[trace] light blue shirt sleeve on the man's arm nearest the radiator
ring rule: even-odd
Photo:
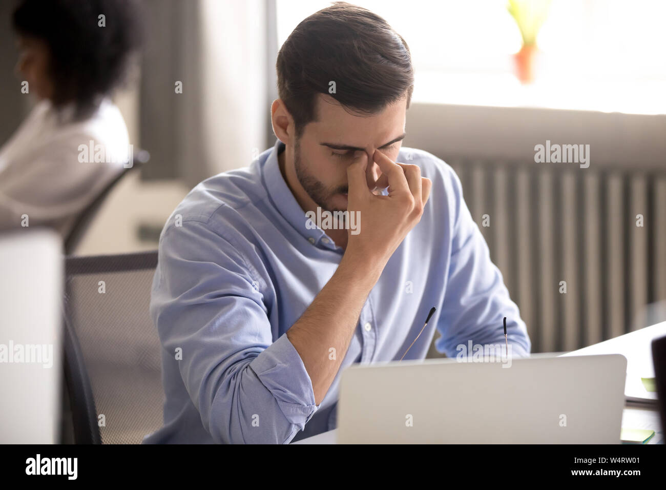
[[[469,341],[472,346],[503,347],[503,317],[506,317],[511,357],[524,357],[529,354],[531,343],[520,311],[509,297],[500,269],[490,259],[486,240],[463,199],[460,179],[450,167],[446,166],[446,171],[450,173],[446,192],[451,210],[452,245],[438,323],[442,337],[436,341],[436,347],[448,357],[467,351]],[[460,345],[464,349],[459,349]]]

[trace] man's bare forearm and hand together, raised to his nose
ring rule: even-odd
[[[358,324],[368,294],[407,233],[421,219],[432,182],[416,165],[392,162],[381,151],[373,155],[382,170],[377,185],[388,185],[388,195],[368,189],[364,156],[347,169],[348,211],[360,212],[360,233],[348,229],[348,243],[340,265],[303,315],[287,331],[312,381],[319,405],[342,361]],[[337,356],[330,359],[330,348]]]

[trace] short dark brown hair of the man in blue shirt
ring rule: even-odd
[[[335,2],[304,19],[276,63],[278,95],[294,118],[296,137],[316,120],[316,95],[330,95],[348,112],[373,115],[414,90],[407,43],[379,15]],[[335,82],[335,93],[329,92]]]

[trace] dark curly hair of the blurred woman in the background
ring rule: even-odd
[[[89,115],[123,83],[143,44],[143,16],[135,0],[21,0],[13,28],[47,43],[53,105],[74,101],[78,117]]]

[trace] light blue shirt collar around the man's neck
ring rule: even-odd
[[[278,155],[284,151],[284,143],[279,139],[275,142],[272,151],[264,164],[264,181],[266,182],[266,191],[274,207],[286,219],[298,233],[305,237],[310,243],[319,243],[322,238],[326,238],[326,233],[318,227],[308,229],[306,223],[310,221],[305,215],[305,211],[300,207],[296,197],[292,194],[287,183],[280,172],[280,163]],[[313,225],[310,225],[312,227]]]

